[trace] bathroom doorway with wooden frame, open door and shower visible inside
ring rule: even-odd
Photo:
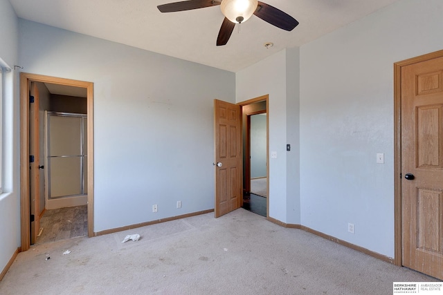
[[[21,73],[20,92],[21,162],[30,163],[21,165],[21,251],[93,236],[93,84]],[[56,133],[64,139],[53,143]]]

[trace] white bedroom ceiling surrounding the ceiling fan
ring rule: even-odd
[[[397,0],[264,0],[300,24],[291,32],[251,17],[226,46],[215,46],[224,16],[219,6],[161,13],[174,0],[10,0],[17,16],[237,72],[283,48],[301,46]],[[273,42],[266,49],[264,43]]]

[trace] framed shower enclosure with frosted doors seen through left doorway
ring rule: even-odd
[[[87,204],[87,115],[45,112],[45,207]]]

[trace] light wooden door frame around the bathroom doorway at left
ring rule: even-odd
[[[20,73],[20,212],[21,251],[30,248],[29,200],[29,91],[30,82],[43,82],[87,88],[87,183],[88,183],[88,236],[93,236],[93,83],[30,73]]]

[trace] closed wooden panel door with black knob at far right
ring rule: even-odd
[[[443,279],[443,57],[401,68],[402,263]]]

